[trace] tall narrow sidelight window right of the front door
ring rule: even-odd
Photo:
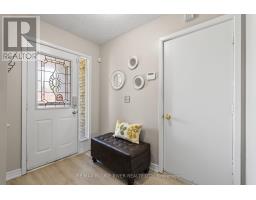
[[[79,67],[79,133],[80,140],[89,138],[88,130],[88,61],[80,58]]]

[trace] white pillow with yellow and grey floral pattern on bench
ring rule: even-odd
[[[117,120],[114,137],[122,138],[139,144],[141,128],[141,124],[128,124],[126,122],[119,122],[119,120]]]

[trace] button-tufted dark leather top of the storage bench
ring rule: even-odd
[[[134,144],[121,138],[114,137],[113,134],[114,133],[112,132],[107,133],[94,137],[92,140],[132,158],[143,154],[150,148],[150,145],[147,143],[140,142],[140,144]]]

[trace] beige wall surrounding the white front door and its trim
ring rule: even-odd
[[[99,46],[41,21],[40,39],[92,56],[92,133],[99,132]],[[7,171],[21,168],[21,67],[8,74]]]

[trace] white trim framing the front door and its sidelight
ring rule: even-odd
[[[80,53],[80,52],[76,52],[46,41],[42,41],[42,40],[38,40],[37,41],[38,44],[41,45],[45,45],[57,50],[61,50],[67,53],[71,53],[83,58],[86,58],[89,62],[88,62],[88,72],[89,72],[89,91],[88,91],[88,95],[89,95],[89,103],[88,103],[88,121],[89,121],[89,138],[91,137],[91,106],[92,106],[92,101],[91,101],[91,86],[92,86],[92,57],[88,56],[86,54]],[[22,175],[27,173],[27,63],[26,62],[22,62],[21,63],[21,67],[22,67],[22,133],[21,133],[21,173]],[[78,134],[78,147],[79,147],[79,142],[80,138],[79,138],[79,134]]]

